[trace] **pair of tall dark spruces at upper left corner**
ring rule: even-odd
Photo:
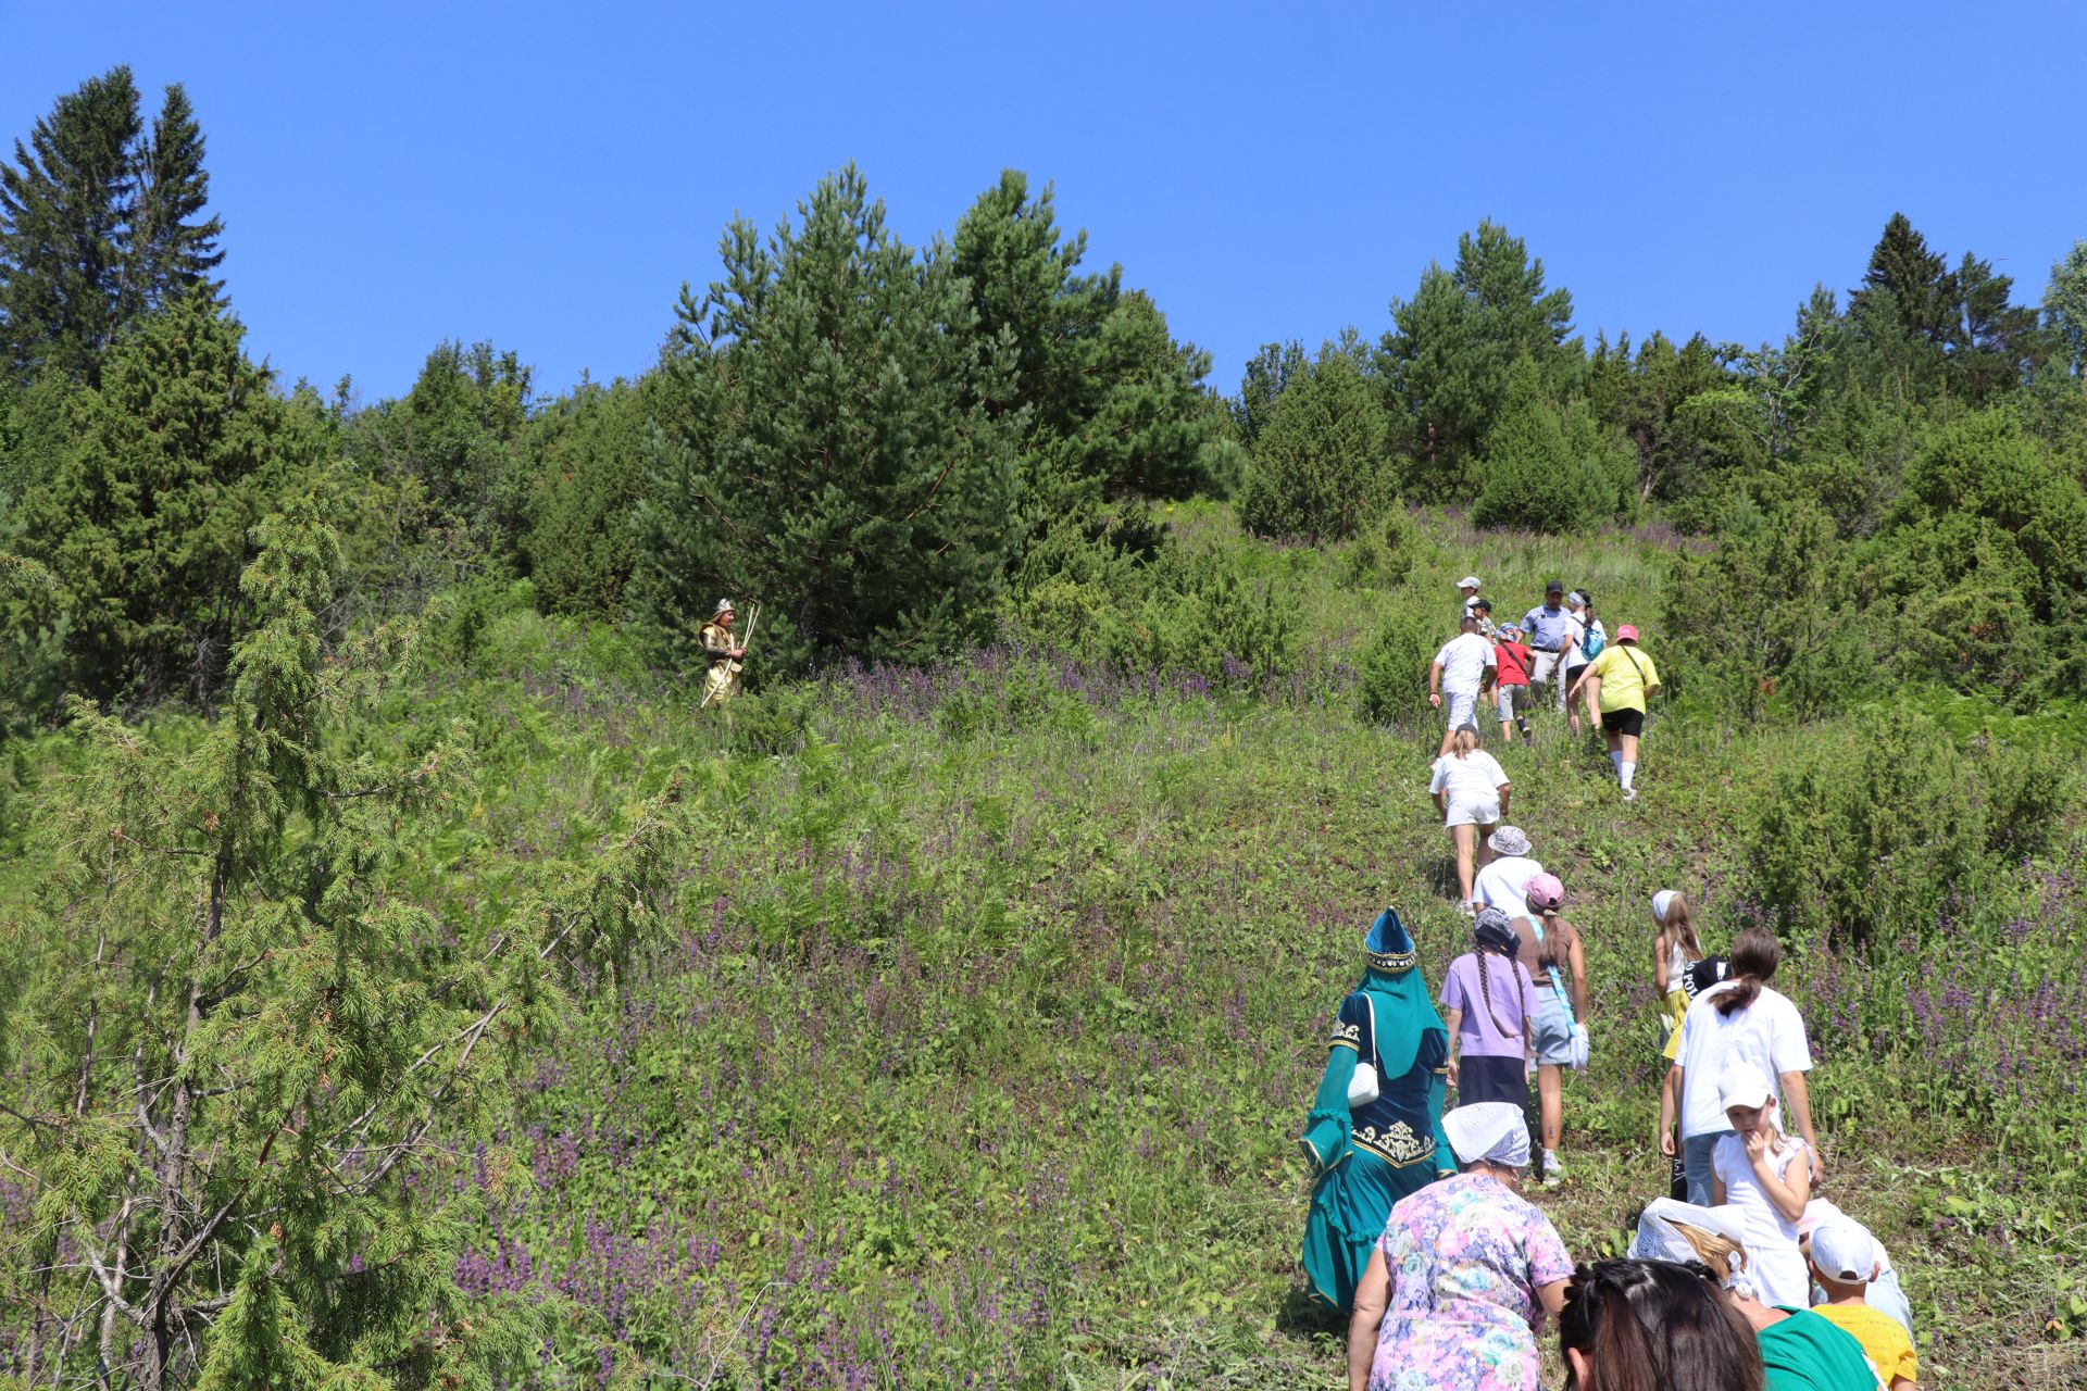
[[[0,352],[17,380],[40,371],[96,384],[119,334],[209,271],[219,219],[209,202],[202,129],[179,86],[150,136],[127,67],[61,96],[0,163]]]

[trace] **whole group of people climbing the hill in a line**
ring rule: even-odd
[[[1461,588],[1463,632],[1430,672],[1430,697],[1448,705],[1430,790],[1457,849],[1469,951],[1430,995],[1398,909],[1377,916],[1302,1132],[1315,1172],[1302,1264],[1350,1318],[1350,1389],[1536,1391],[1536,1339],[1555,1318],[1576,1391],[1912,1391],[1891,1260],[1814,1195],[1812,1051],[1770,984],[1772,932],[1747,928],[1709,955],[1688,897],[1651,897],[1670,1166],[1630,1258],[1576,1264],[1526,1191],[1565,1174],[1563,1074],[1588,1059],[1588,972],[1565,884],[1505,820],[1513,786],[1478,747],[1478,701],[1498,692],[1513,738],[1532,682],[1555,682],[1561,709],[1586,699],[1613,755],[1628,738],[1615,757],[1628,799],[1659,676],[1630,626],[1613,644],[1592,636],[1584,592],[1551,584],[1540,609],[1490,628],[1478,580]]]

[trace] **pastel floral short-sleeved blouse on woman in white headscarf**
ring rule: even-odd
[[[1392,1291],[1369,1391],[1536,1391],[1536,1289],[1572,1274],[1559,1233],[1488,1174],[1432,1182],[1377,1239]]]

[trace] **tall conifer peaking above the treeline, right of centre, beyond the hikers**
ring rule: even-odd
[[[1411,300],[1392,300],[1392,325],[1380,371],[1398,444],[1415,457],[1409,488],[1459,482],[1517,361],[1549,373],[1578,357],[1565,348],[1572,294],[1544,290],[1544,263],[1494,221],[1457,238],[1455,269],[1430,265]]]

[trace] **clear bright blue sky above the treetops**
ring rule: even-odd
[[[0,136],[184,81],[232,300],[284,382],[440,338],[645,369],[735,213],[854,158],[910,242],[1002,167],[1238,386],[1505,221],[1578,327],[1780,338],[1903,209],[2037,300],[2087,238],[2087,6],[102,4],[0,0]]]

